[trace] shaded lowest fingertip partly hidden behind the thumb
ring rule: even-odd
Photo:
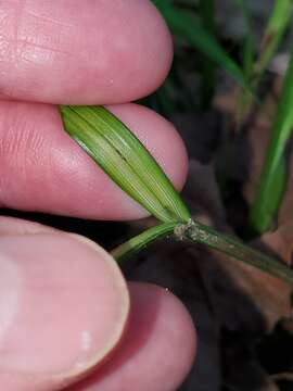
[[[183,304],[149,283],[129,285],[128,329],[111,361],[72,391],[177,390],[193,364],[196,335]]]

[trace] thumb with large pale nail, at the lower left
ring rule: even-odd
[[[0,383],[58,390],[102,362],[129,310],[113,258],[62,232],[0,237]]]

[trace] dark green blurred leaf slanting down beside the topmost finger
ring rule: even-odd
[[[161,0],[153,1],[165,17],[170,30],[183,38],[189,45],[200,50],[211,60],[226,70],[241,86],[250,89],[241,67],[231,59],[217,40],[201,24],[199,18],[190,12],[171,5],[162,4]]]

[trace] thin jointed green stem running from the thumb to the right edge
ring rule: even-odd
[[[112,255],[120,263],[133,253],[146,248],[151,242],[173,234],[180,240],[186,239],[205,244],[211,249],[255,266],[293,286],[293,270],[285,264],[250,248],[233,237],[220,234],[214,228],[191,219],[188,224],[166,223],[150,228],[114,249]]]

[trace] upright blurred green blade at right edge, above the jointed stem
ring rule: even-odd
[[[293,52],[277,108],[259,186],[251,209],[251,225],[257,232],[267,230],[278,213],[285,186],[284,149],[293,128]]]

